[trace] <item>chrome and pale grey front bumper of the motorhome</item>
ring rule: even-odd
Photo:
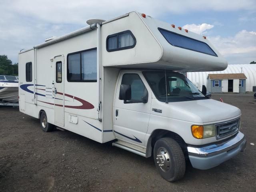
[[[239,131],[230,140],[205,146],[188,146],[188,156],[194,168],[205,170],[218,166],[239,152],[244,152],[245,148],[246,139]]]

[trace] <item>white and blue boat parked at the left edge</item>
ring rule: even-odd
[[[0,75],[0,102],[18,102],[18,78]]]

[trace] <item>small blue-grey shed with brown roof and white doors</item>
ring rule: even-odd
[[[208,74],[207,88],[212,93],[245,93],[246,79],[243,73]]]

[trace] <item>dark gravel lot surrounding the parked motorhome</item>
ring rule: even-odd
[[[242,191],[255,192],[256,99],[252,93],[213,94],[242,110],[247,148],[210,170],[187,166],[184,179],[162,179],[153,158],[69,131],[40,130],[39,120],[0,106],[0,191]]]

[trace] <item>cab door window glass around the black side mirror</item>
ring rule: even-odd
[[[124,74],[121,84],[131,85],[131,102],[142,102],[142,97],[146,94],[147,90],[138,74]]]

